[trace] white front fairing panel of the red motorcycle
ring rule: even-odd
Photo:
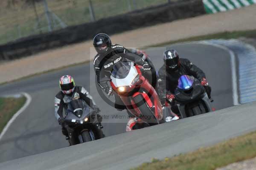
[[[116,86],[116,88],[121,87],[121,86],[129,86],[131,85],[132,81],[134,78],[138,75],[138,72],[134,66],[133,63],[131,63],[131,69],[129,74],[124,78],[124,79],[117,79],[113,77],[112,75],[110,76],[111,81],[113,84]]]

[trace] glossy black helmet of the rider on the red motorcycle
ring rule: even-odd
[[[106,54],[111,49],[111,40],[107,34],[100,33],[93,38],[93,46],[99,54]]]

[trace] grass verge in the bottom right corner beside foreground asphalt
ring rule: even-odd
[[[215,170],[228,164],[256,157],[256,131],[211,147],[164,160],[152,159],[132,170]]]

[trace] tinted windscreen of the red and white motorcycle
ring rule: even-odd
[[[131,62],[117,62],[111,71],[111,75],[116,79],[124,79],[129,74],[130,69]]]

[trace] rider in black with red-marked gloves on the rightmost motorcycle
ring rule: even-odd
[[[204,86],[209,99],[211,99],[211,87],[208,85],[204,72],[194,65],[189,59],[180,58],[177,51],[169,49],[163,53],[164,64],[157,74],[157,92],[162,104],[171,104],[172,111],[179,113],[175,104],[174,91],[178,85],[178,79],[182,75],[189,75],[197,78]]]

